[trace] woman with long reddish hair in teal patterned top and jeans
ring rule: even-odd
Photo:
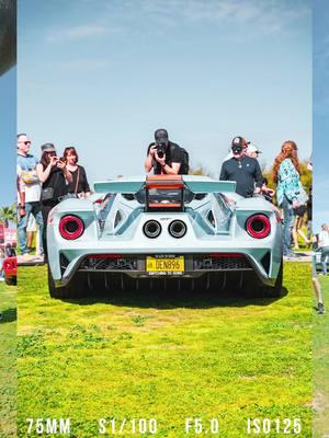
[[[276,183],[277,205],[283,209],[283,255],[295,257],[291,249],[294,226],[294,209],[299,207],[300,168],[297,145],[288,140],[282,145],[273,165],[273,180]]]

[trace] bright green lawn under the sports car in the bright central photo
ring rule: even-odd
[[[21,268],[19,285],[19,436],[26,417],[70,417],[78,438],[100,436],[102,417],[156,418],[156,436],[174,438],[196,436],[188,417],[218,418],[226,438],[247,437],[248,417],[290,417],[311,437],[308,263],[285,264],[276,300],[154,291],[60,301],[45,267]]]

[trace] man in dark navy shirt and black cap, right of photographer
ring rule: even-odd
[[[235,137],[231,142],[232,158],[224,161],[220,170],[220,181],[236,181],[236,192],[248,198],[260,193],[263,175],[256,158],[246,155],[247,141]]]

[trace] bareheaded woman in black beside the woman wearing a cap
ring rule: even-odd
[[[79,198],[83,198],[90,195],[90,188],[87,180],[84,168],[78,164],[79,157],[77,149],[73,147],[65,148],[63,161],[70,174],[72,175],[72,182],[68,184],[68,193],[76,195]]]

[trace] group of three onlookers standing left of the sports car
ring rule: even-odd
[[[31,140],[18,135],[18,241],[20,262],[47,261],[46,227],[49,211],[66,197],[90,195],[84,168],[75,147],[59,158],[50,142],[41,147],[41,159],[30,153]],[[38,228],[38,233],[35,233]],[[36,245],[33,246],[36,234]]]

